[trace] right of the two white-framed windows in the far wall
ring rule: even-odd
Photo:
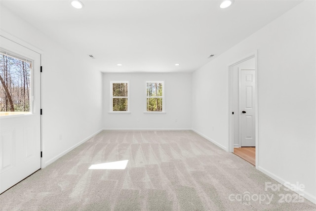
[[[164,112],[163,82],[146,82],[147,112]]]

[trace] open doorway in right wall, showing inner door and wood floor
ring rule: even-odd
[[[257,53],[229,65],[229,151],[258,166]]]

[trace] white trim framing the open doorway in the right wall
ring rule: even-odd
[[[228,65],[228,151],[234,152],[234,115],[233,112],[233,69],[239,63],[242,63],[248,59],[255,58],[255,135],[256,135],[256,169],[258,169],[259,164],[259,115],[258,115],[258,50],[255,52],[241,57],[241,59],[237,60]]]

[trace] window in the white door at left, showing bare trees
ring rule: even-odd
[[[0,116],[31,113],[32,61],[0,50]]]

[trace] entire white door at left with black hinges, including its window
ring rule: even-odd
[[[0,50],[2,193],[40,169],[40,54],[3,37],[0,37]]]

